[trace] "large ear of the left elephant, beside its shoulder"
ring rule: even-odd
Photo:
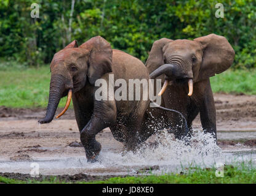
[[[104,74],[112,72],[113,51],[110,43],[103,39],[103,37],[92,37],[79,48],[89,50],[89,68],[87,70],[87,76],[90,84],[94,85],[95,81]]]

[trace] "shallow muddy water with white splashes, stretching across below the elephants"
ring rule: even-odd
[[[104,134],[103,134],[104,137]],[[256,132],[220,132],[218,139],[256,138]],[[99,138],[100,139],[100,138]],[[152,145],[154,143],[154,145]],[[70,148],[70,147],[68,147]],[[39,148],[46,149],[44,147]],[[74,148],[72,148],[74,149]],[[77,149],[77,148],[76,148]],[[60,151],[56,146],[52,151]],[[161,132],[151,137],[148,142],[138,149],[137,153],[124,153],[119,143],[114,140],[103,143],[99,162],[87,163],[82,152],[74,154],[48,154],[34,156],[33,160],[10,161],[0,160],[1,172],[30,173],[32,163],[37,163],[42,175],[73,175],[86,173],[87,175],[137,175],[140,170],[154,166],[153,173],[180,172],[185,167],[213,167],[215,163],[239,164],[239,162],[256,163],[256,148],[250,148],[237,143],[233,146],[215,145],[210,135],[198,131],[191,139],[190,146],[182,141],[175,141],[172,135]],[[157,166],[155,166],[157,165]]]

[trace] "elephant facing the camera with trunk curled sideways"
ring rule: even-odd
[[[200,113],[202,129],[214,135],[216,142],[216,111],[210,77],[220,74],[233,63],[234,50],[225,37],[210,34],[194,40],[162,38],[153,43],[146,67],[150,78],[162,80],[162,105],[180,111],[190,127]],[[184,130],[173,114],[175,137]],[[176,122],[176,124],[175,124]]]

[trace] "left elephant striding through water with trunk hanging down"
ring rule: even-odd
[[[76,40],[71,42],[54,55],[50,70],[47,113],[39,123],[50,123],[60,99],[68,96],[66,106],[57,118],[63,115],[72,98],[81,142],[90,162],[96,160],[101,149],[95,140],[100,130],[110,127],[116,140],[123,142],[126,149],[134,150],[155,131],[153,120],[159,123],[159,119],[166,115],[164,110],[150,108],[150,99],[143,100],[143,96],[139,100],[115,100],[110,99],[114,92],[103,91],[108,99],[96,99],[95,92],[100,88],[96,85],[98,79],[106,81],[106,89],[118,88],[110,82],[110,74],[114,75],[115,81],[122,79],[127,84],[129,79],[150,79],[142,61],[123,51],[112,50],[110,43],[100,36],[79,47]],[[140,93],[142,95],[142,91]],[[161,125],[158,128],[161,129]]]

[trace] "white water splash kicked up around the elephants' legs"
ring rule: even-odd
[[[215,160],[222,157],[221,149],[216,145],[211,134],[194,132],[190,145],[185,141],[175,140],[172,134],[161,131],[151,137],[135,153],[100,154],[100,160],[105,167],[138,168],[158,165],[164,172],[177,171],[182,167],[207,167],[214,165]]]

